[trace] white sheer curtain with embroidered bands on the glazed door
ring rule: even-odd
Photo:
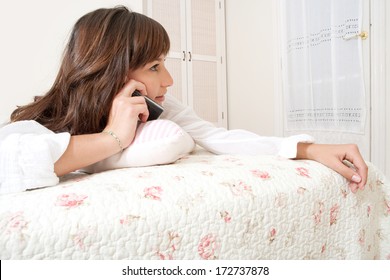
[[[280,0],[287,131],[364,133],[362,0]]]

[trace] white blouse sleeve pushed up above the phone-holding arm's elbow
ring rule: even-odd
[[[0,129],[0,194],[20,192],[59,182],[54,163],[65,152],[69,133],[54,133],[35,121]]]

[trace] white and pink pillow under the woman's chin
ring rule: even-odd
[[[138,126],[133,143],[122,153],[90,165],[89,173],[124,167],[173,163],[195,147],[192,137],[176,123],[154,120]]]

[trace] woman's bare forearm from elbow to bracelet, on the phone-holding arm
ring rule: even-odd
[[[116,139],[106,133],[72,136],[67,149],[55,162],[54,172],[62,176],[110,157],[120,150]]]

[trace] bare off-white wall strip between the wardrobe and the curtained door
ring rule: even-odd
[[[228,125],[274,131],[273,0],[226,0]]]

